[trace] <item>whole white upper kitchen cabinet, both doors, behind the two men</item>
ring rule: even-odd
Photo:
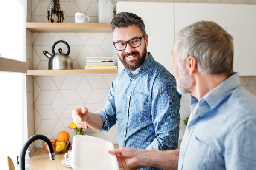
[[[177,33],[200,21],[214,21],[234,38],[234,71],[256,75],[256,5],[203,3],[118,2],[116,11],[142,17],[148,34],[148,51],[172,74],[172,47]],[[116,52],[114,50],[114,54]],[[118,60],[119,72],[124,68]]]

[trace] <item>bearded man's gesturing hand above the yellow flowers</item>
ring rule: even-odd
[[[88,128],[86,118],[87,118],[88,109],[86,107],[76,108],[72,111],[73,122],[82,128]]]

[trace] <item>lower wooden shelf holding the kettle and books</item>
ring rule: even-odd
[[[102,70],[27,70],[27,76],[74,75],[74,74],[118,74],[118,69]]]

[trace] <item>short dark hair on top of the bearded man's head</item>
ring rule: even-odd
[[[110,23],[111,34],[116,28],[125,28],[131,25],[135,25],[140,28],[142,34],[146,34],[146,28],[141,17],[130,13],[130,12],[120,12],[113,17]]]

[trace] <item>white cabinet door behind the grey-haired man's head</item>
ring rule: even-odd
[[[256,75],[256,5],[175,3],[174,9],[175,39],[194,22],[213,21],[234,39],[234,71]]]

